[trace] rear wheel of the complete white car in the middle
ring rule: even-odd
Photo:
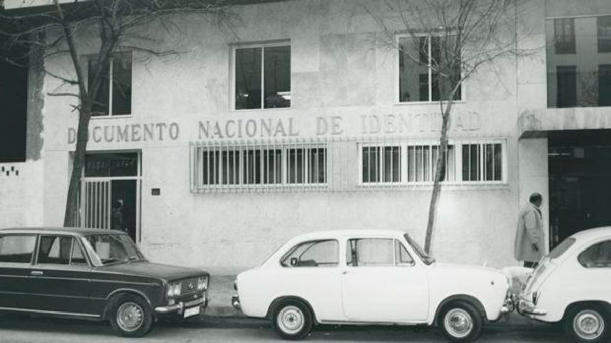
[[[281,338],[296,341],[312,331],[312,321],[310,308],[302,301],[290,299],[276,306],[271,323]]]

